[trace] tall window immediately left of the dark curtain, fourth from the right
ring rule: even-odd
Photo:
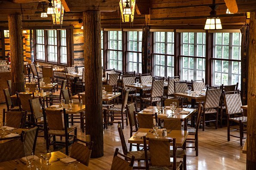
[[[142,31],[128,31],[128,71],[142,73]]]

